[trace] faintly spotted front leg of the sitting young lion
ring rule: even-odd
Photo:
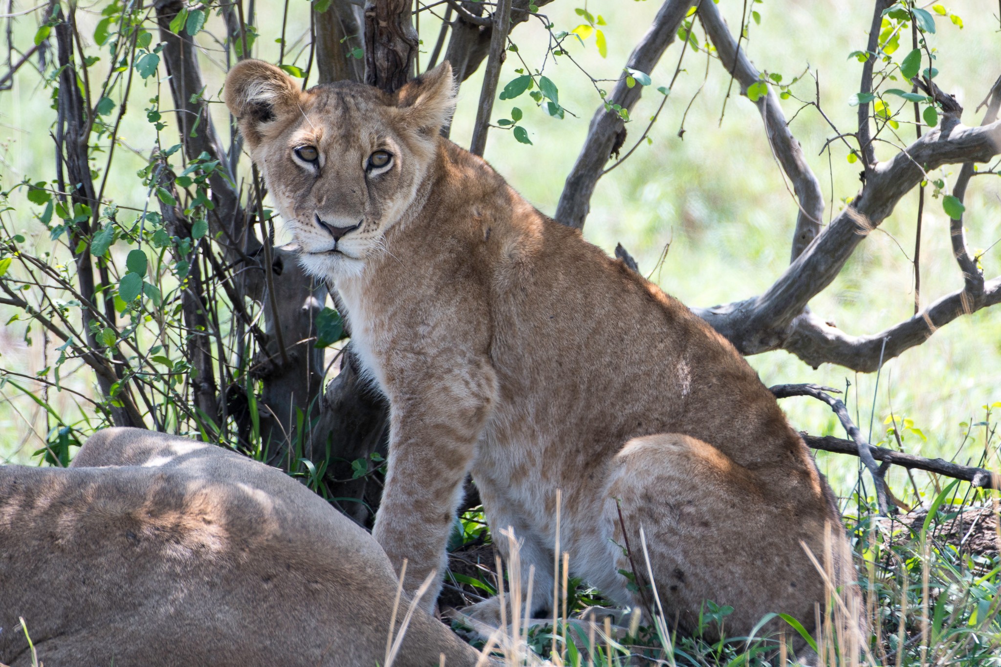
[[[441,588],[445,543],[493,403],[495,381],[485,361],[425,374],[419,390],[389,392],[389,461],[372,534],[414,595],[433,575],[420,606],[430,610]]]

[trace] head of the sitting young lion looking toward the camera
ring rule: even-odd
[[[360,270],[413,203],[455,104],[446,62],[389,95],[347,81],[303,92],[245,60],[226,77],[225,101],[303,267],[322,277]]]

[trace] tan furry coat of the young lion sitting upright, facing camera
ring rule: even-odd
[[[616,544],[625,523],[637,563],[644,528],[683,630],[707,599],[735,608],[729,634],[768,612],[812,628],[823,585],[800,540],[822,554],[825,523],[837,526],[837,567],[851,581],[847,542],[808,449],[733,346],[483,160],[428,135],[427,118],[451,108],[447,64],[396,96],[336,83],[274,102],[266,121],[241,106],[260,79],[282,76],[241,63],[227,101],[303,266],[336,286],[352,344],[389,399],[374,535],[393,563],[410,559],[405,585],[440,572],[471,472],[494,534],[512,526],[524,541],[537,611],[552,595],[562,489],[571,569],[619,604],[640,602],[618,573],[631,569]],[[319,149],[318,172],[291,158],[301,141]],[[365,156],[384,147],[392,170],[368,175]],[[314,216],[361,227],[334,246]]]

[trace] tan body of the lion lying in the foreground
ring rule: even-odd
[[[365,531],[214,445],[107,429],[69,469],[0,466],[0,663],[31,664],[24,617],[47,667],[375,667],[396,587]],[[394,664],[439,653],[476,661],[420,612]]]

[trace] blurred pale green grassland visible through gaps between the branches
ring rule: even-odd
[[[736,34],[743,0],[721,0],[719,6]],[[304,0],[291,0],[286,31],[290,44],[298,41],[286,51],[285,62],[294,59],[303,69],[308,55],[301,51],[308,40],[308,7]],[[424,62],[439,26],[432,14],[442,7],[420,14]],[[946,3],[945,7],[962,18],[963,27],[936,14],[938,30],[932,39],[940,70],[936,81],[963,104],[964,122],[979,124],[981,114],[974,109],[1001,75],[999,7],[987,0]],[[93,34],[101,8],[102,3],[98,3],[78,9],[84,35]],[[568,48],[592,77],[618,78],[660,3],[556,0],[541,12],[553,22],[554,31],[570,31],[584,22],[575,11],[584,8],[601,15],[607,23],[601,26],[608,42],[607,57],[598,52],[593,35],[583,45],[569,40]],[[849,106],[848,98],[858,91],[862,64],[849,54],[865,48],[872,3],[766,0],[754,3],[754,10],[759,13],[760,24],[749,23],[746,44],[758,69],[781,73],[784,82],[809,71],[793,87],[793,93],[812,100],[819,91],[820,104],[838,131],[854,131],[857,110]],[[280,3],[258,3],[260,37],[254,45],[256,57],[276,60],[278,46],[274,39],[279,35],[281,11]],[[14,42],[19,48],[31,45],[38,15],[36,11],[15,20]],[[221,20],[214,15],[206,29],[224,34]],[[695,32],[703,44],[705,37],[698,24]],[[513,33],[519,53],[533,69],[543,68],[549,39],[550,34],[539,20],[520,25]],[[205,95],[218,100],[225,74],[222,51],[206,33],[198,35],[198,42],[204,47],[201,64],[208,81]],[[909,36],[902,42],[898,58],[910,50]],[[656,88],[669,84],[680,53],[681,46],[675,43],[650,73],[653,86],[645,91],[632,114],[627,149],[640,137],[660,103],[662,96]],[[514,54],[508,55],[502,86],[517,76],[514,70],[522,66]],[[98,70],[100,67],[100,63],[95,66]],[[600,181],[585,235],[610,253],[616,243],[623,243],[638,260],[641,271],[651,274],[651,279],[665,291],[687,304],[710,306],[760,294],[781,274],[789,261],[797,205],[772,158],[758,111],[738,95],[736,83],[726,102],[726,113],[722,113],[730,76],[720,63],[703,48],[689,48],[682,68],[651,132],[652,143],[640,146],[621,167]],[[494,120],[510,117],[512,106],[525,111],[522,125],[533,144],[519,143],[511,132],[491,129],[485,158],[530,201],[553,214],[600,98],[588,75],[566,57],[551,55],[545,61],[544,74],[559,86],[561,103],[568,111],[566,117],[551,118],[536,108],[528,95],[514,102],[497,101]],[[162,66],[160,76],[165,76]],[[121,131],[124,150],[116,154],[115,169],[120,173],[113,174],[108,186],[110,198],[138,208],[142,208],[147,193],[134,173],[146,163],[157,141],[140,110],[148,107],[148,100],[157,94],[168,123],[160,141],[164,146],[176,143],[174,119],[165,113],[171,107],[167,82],[151,81],[144,84],[137,79],[133,85],[130,110]],[[314,81],[315,74],[311,83]],[[611,90],[613,84],[600,85]],[[477,73],[459,91],[451,137],[460,145],[468,144],[479,87]],[[44,179],[53,170],[49,129],[55,112],[50,108],[50,92],[39,73],[29,67],[14,77],[12,90],[0,92],[0,187],[4,190],[25,177]],[[830,156],[819,154],[825,141],[836,132],[816,109],[800,110],[801,106],[795,99],[783,102],[787,118],[795,116],[792,131],[822,184],[828,201],[825,215],[837,214],[845,198],[855,196],[859,189],[858,164],[846,160],[843,144],[833,145]],[[678,135],[687,108],[682,139]],[[225,109],[218,104],[214,111],[217,127],[228,141]],[[903,118],[912,118],[912,113],[908,109]],[[898,135],[899,141],[887,138],[898,144],[913,141],[914,127],[901,123]],[[882,159],[896,151],[890,144],[877,145],[877,155]],[[241,167],[249,169],[246,159]],[[936,177],[951,184],[958,172],[958,165],[947,167]],[[921,252],[925,304],[962,285],[949,245],[948,218],[941,200],[930,197],[931,189],[928,195]],[[11,195],[10,205],[15,210],[5,215],[13,216],[30,243],[39,249],[51,245],[34,220],[37,207],[27,202],[23,191]],[[990,248],[981,261],[986,277],[997,276],[1001,273],[1001,244],[993,244],[1001,239],[1001,179],[993,175],[974,178],[966,207],[970,247],[975,252]],[[916,211],[915,191],[859,247],[838,280],[811,307],[853,334],[875,333],[910,317],[914,307],[910,258]],[[669,243],[665,261],[658,264]],[[68,257],[65,249],[60,256]],[[0,307],[0,317],[2,322],[9,318],[4,307]],[[31,333],[32,345],[28,346],[24,338],[23,323],[12,323],[0,331],[0,368],[33,373],[47,365],[52,350],[46,349],[37,327]],[[890,361],[883,369],[878,391],[875,374],[859,375],[831,365],[815,370],[786,352],[753,356],[749,361],[768,385],[813,382],[844,389],[846,383],[851,383],[847,403],[863,433],[868,433],[873,421],[873,442],[886,439],[884,422],[892,411],[898,420],[913,420],[920,431],[905,434],[908,451],[955,458],[960,463],[968,459],[976,462],[986,443],[987,427],[977,425],[985,420],[983,406],[1001,401],[1001,309],[960,318],[923,346]],[[86,369],[66,377],[64,384],[84,393],[94,391],[93,378]],[[50,393],[49,398],[58,409],[78,410],[76,400],[65,392],[59,396]],[[784,400],[783,407],[800,429],[844,436],[829,409],[819,402],[793,398]],[[0,461],[29,461],[31,452],[41,446],[39,436],[45,438],[45,431],[44,413],[37,405],[10,385],[0,389]],[[990,466],[997,469],[997,451],[994,444],[991,447]],[[856,479],[856,459],[819,453],[818,460],[839,492],[850,491]],[[915,477],[919,486],[927,483],[921,474]],[[903,471],[892,469],[890,480],[899,494],[906,480]]]

